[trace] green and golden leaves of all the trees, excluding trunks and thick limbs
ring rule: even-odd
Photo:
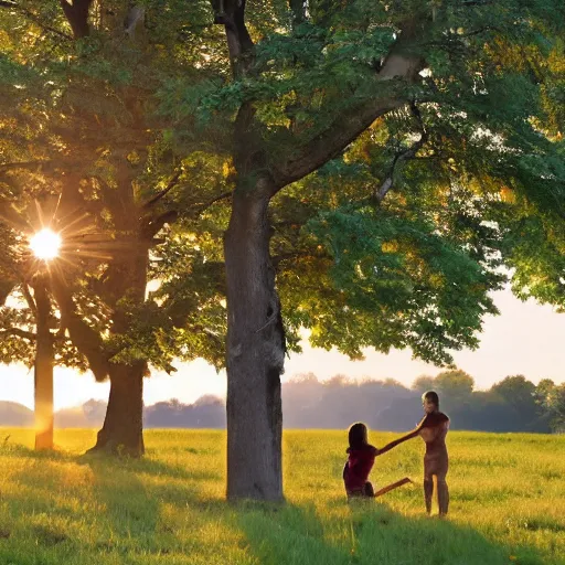
[[[145,305],[120,302],[132,323],[106,344],[115,361],[147,359],[168,371],[174,358],[223,363],[222,275],[207,265],[223,260],[228,209],[196,212],[233,189],[231,136],[248,103],[276,173],[364,100],[401,100],[271,204],[290,349],[306,327],[315,345],[353,358],[364,347],[409,347],[449,364],[449,351],[477,347],[483,316],[495,313],[489,291],[504,280],[501,265],[513,269],[520,297],[562,305],[561,2],[319,1],[308,14],[281,1],[249,4],[253,65],[236,77],[204,1],[163,10],[148,0],[145,28],[126,40],[126,3],[95,3],[92,33],[76,42],[65,39],[56,2],[19,6],[33,18],[2,10],[2,143],[10,159],[62,164],[12,172],[10,182],[33,178],[35,192],[56,191],[53,179],[72,170],[96,230],[127,241],[108,206],[117,179],[132,179],[141,204],[182,169],[157,210],[185,216],[164,226],[150,253],[150,276],[162,286]],[[399,31],[426,70],[409,85],[379,76]],[[387,180],[392,189],[377,202]],[[92,290],[103,267],[74,276]]]

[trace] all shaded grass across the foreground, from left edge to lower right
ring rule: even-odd
[[[148,556],[157,563],[173,554],[178,561],[180,555],[222,559],[232,541],[222,547],[216,544],[230,532],[237,533],[234,544],[239,543],[237,537],[243,544],[242,561],[238,554],[234,564],[247,563],[244,554],[260,565],[546,563],[535,547],[521,546],[511,554],[509,547],[465,524],[405,516],[375,501],[348,505],[330,498],[300,505],[227,505],[203,494],[199,484],[217,481],[216,472],[188,470],[158,458],[36,452],[21,446],[3,447],[0,456],[29,460],[14,476],[18,488],[2,495],[8,521],[17,522],[18,532],[3,540],[2,532],[12,524],[0,522],[0,563],[93,563],[93,556],[99,556],[100,564],[126,558],[136,563]],[[78,469],[78,482],[73,483],[67,473],[76,466],[92,472]],[[90,507],[81,508],[86,503]],[[25,550],[17,553],[15,541]],[[42,557],[38,552],[43,552]],[[71,561],[79,553],[90,557]]]

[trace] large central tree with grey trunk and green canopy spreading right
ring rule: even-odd
[[[363,341],[382,350],[411,345],[448,361],[448,349],[476,345],[482,316],[495,311],[487,292],[503,279],[500,259],[535,294],[524,267],[532,246],[563,241],[562,149],[544,124],[557,102],[546,75],[561,68],[548,61],[559,57],[565,8],[519,0],[215,7],[232,79],[201,109],[233,116],[236,170],[224,246],[227,495],[278,500],[286,340],[269,204],[317,171],[330,186],[338,175],[343,193],[358,189],[349,205],[338,196],[311,224],[342,295],[326,322],[339,329],[326,332],[326,344],[363,333],[356,311],[379,320]],[[515,233],[510,244],[518,225],[520,249]],[[547,249],[536,265],[552,278],[540,288],[553,285],[554,301],[563,299],[559,260]]]

